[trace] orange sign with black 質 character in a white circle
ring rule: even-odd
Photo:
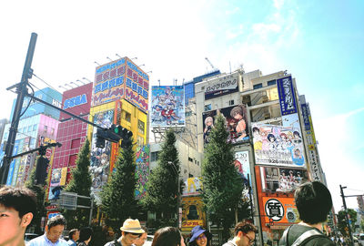
[[[298,223],[298,210],[294,198],[262,197],[264,205],[264,221],[269,223]]]

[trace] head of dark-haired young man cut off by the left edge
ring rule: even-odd
[[[0,189],[0,245],[24,241],[26,227],[36,212],[35,193],[26,188]]]

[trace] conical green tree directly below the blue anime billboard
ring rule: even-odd
[[[158,153],[157,167],[150,173],[147,181],[147,194],[141,200],[147,210],[157,214],[153,227],[176,225],[179,172],[176,136],[173,129],[169,129]]]

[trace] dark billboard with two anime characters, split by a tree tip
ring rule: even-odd
[[[247,108],[244,104],[238,106],[232,106],[227,108],[218,109],[227,119],[227,130],[230,133],[227,137],[227,141],[230,143],[245,142],[249,139],[249,132],[247,128]],[[217,110],[211,110],[202,114],[203,126],[204,126],[204,143],[209,142],[209,134],[214,128],[214,120],[217,115]]]

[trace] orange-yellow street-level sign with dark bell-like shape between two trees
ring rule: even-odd
[[[191,231],[199,225],[205,227],[204,204],[200,197],[182,198],[182,231]]]

